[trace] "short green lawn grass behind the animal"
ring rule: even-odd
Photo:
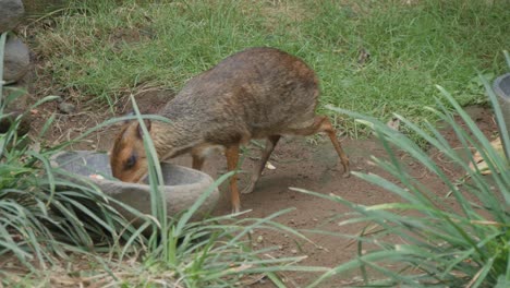
[[[35,25],[42,79],[113,104],[141,87],[178,92],[193,75],[251,46],[312,65],[331,104],[380,119],[434,120],[439,84],[461,105],[486,103],[477,71],[502,71],[509,1],[77,1]],[[490,2],[491,4],[488,4]],[[41,23],[41,22],[38,22]],[[361,48],[372,57],[357,64]],[[351,135],[354,122],[338,119]]]

